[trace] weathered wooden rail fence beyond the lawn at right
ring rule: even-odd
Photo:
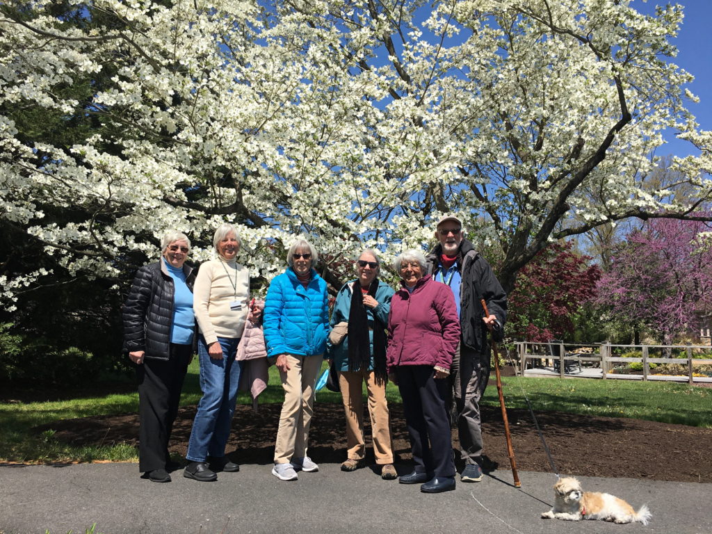
[[[560,377],[580,376],[586,378],[621,378],[621,379],[651,379],[650,364],[686,365],[687,376],[654,375],[656,380],[673,380],[676,382],[712,382],[712,377],[695,377],[693,370],[696,365],[712,365],[712,359],[693,357],[694,350],[709,351],[709,345],[612,345],[600,343],[597,345],[579,345],[560,341],[550,343],[515,342],[520,375],[558,375]],[[572,348],[575,347],[574,350]],[[589,347],[592,352],[580,352],[581,347]],[[624,349],[625,352],[639,350],[641,357],[614,356],[614,349]],[[579,350],[576,350],[579,349]],[[651,350],[682,349],[686,358],[651,357]],[[615,364],[642,363],[642,375],[621,375],[612,373]]]

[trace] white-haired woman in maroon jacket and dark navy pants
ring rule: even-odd
[[[423,276],[425,256],[409,250],[396,258],[402,288],[388,318],[386,365],[403,399],[414,471],[402,484],[423,483],[424,493],[455,488],[450,424],[445,408],[450,365],[460,340],[460,320],[449,286]]]

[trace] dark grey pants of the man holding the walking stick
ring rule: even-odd
[[[482,421],[480,400],[490,375],[489,347],[478,352],[460,343],[450,367],[461,458],[466,464],[481,464]]]

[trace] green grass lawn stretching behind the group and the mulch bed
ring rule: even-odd
[[[325,368],[325,365],[324,365]],[[669,382],[629,382],[627,380],[503,378],[507,407],[525,408],[529,397],[535,412],[557,411],[604,417],[629,417],[666,423],[712,428],[712,389]],[[200,398],[198,365],[189,367],[182,405],[197,404]],[[388,384],[389,402],[400,402],[397,387]],[[275,367],[270,370],[270,384],[260,402],[282,402],[283,394]],[[239,402],[250,403],[241,393]],[[317,402],[341,402],[339,393],[326,389],[317,392]],[[483,404],[498,405],[494,378],[487,388]],[[131,446],[75,447],[53,438],[51,431],[38,434],[34,426],[59,419],[91,415],[136,412],[137,394],[107,394],[91,398],[0,404],[0,461],[91,461],[135,460]]]

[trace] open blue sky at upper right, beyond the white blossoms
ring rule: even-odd
[[[631,6],[643,13],[653,13],[656,4],[665,5],[666,2],[648,0],[644,3],[638,0],[632,2]],[[712,1],[681,0],[679,4],[684,6],[685,19],[679,36],[671,40],[679,51],[672,62],[695,77],[688,88],[700,98],[700,102],[689,102],[687,108],[695,115],[702,130],[712,130]],[[689,143],[676,140],[674,132],[669,132],[665,137],[669,145],[659,149],[660,156],[698,153]]]

